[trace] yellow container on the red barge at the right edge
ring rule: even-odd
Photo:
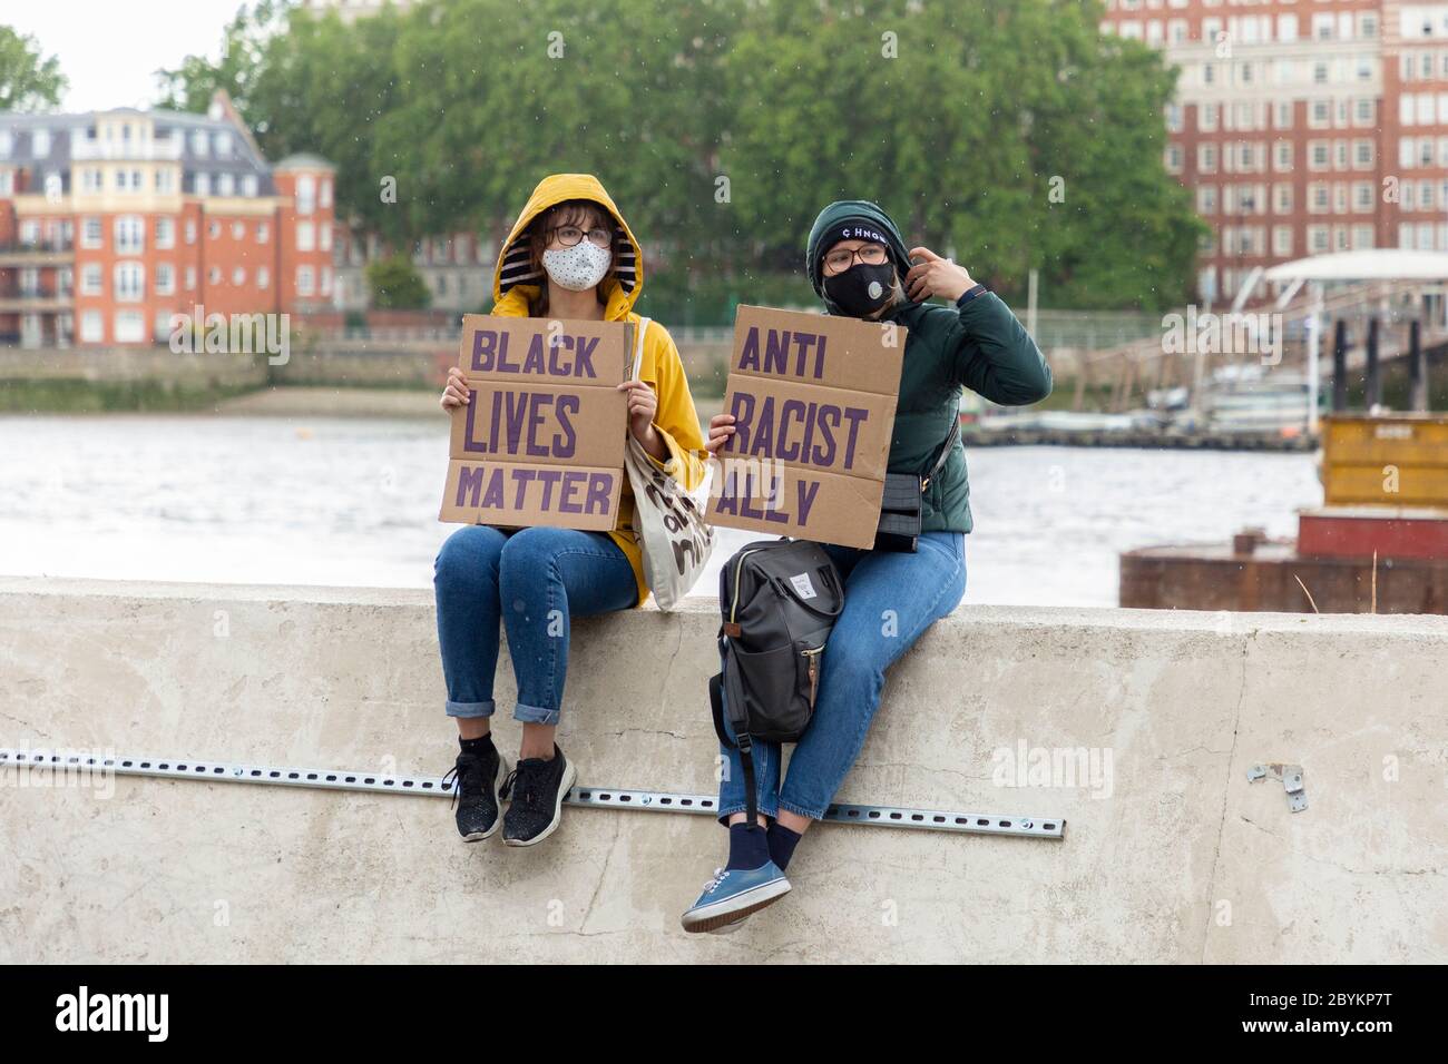
[[[1322,488],[1329,507],[1448,510],[1448,415],[1325,417]]]

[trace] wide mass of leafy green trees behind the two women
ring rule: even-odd
[[[222,61],[167,72],[168,98],[226,87],[269,156],[336,162],[340,216],[392,246],[501,242],[540,177],[598,174],[670,308],[798,281],[815,213],[857,197],[1003,294],[1038,269],[1048,305],[1177,304],[1203,227],[1161,158],[1173,72],[1099,19],[1098,0],[423,0],[343,23],[265,0]]]

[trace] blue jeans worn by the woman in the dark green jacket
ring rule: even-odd
[[[966,594],[964,534],[919,537],[914,554],[825,544],[844,578],[844,609],[825,644],[814,719],[795,746],[780,786],[778,743],[754,743],[756,803],[765,816],[780,809],[820,819],[860,756],[880,704],[885,670]],[[728,728],[728,714],[724,714]],[[728,731],[733,737],[733,730]],[[720,783],[720,821],[744,811],[744,767],[738,750]]]

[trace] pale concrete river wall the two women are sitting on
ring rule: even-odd
[[[576,624],[582,782],[712,789],[714,627]],[[498,696],[515,748],[505,663]],[[0,579],[0,747],[440,774],[442,699],[426,592]],[[1442,963],[1445,699],[1448,618],[966,607],[891,675],[840,799],[1064,841],[818,825],[731,937],[678,925],[710,818],[569,809],[511,850],[442,799],[9,774],[0,960]],[[1109,754],[1109,788],[998,786],[1019,743]],[[1309,809],[1257,761],[1303,764]]]

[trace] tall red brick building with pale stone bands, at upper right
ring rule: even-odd
[[[1180,71],[1166,162],[1213,230],[1200,300],[1309,255],[1448,250],[1448,0],[1106,0],[1102,29]]]

